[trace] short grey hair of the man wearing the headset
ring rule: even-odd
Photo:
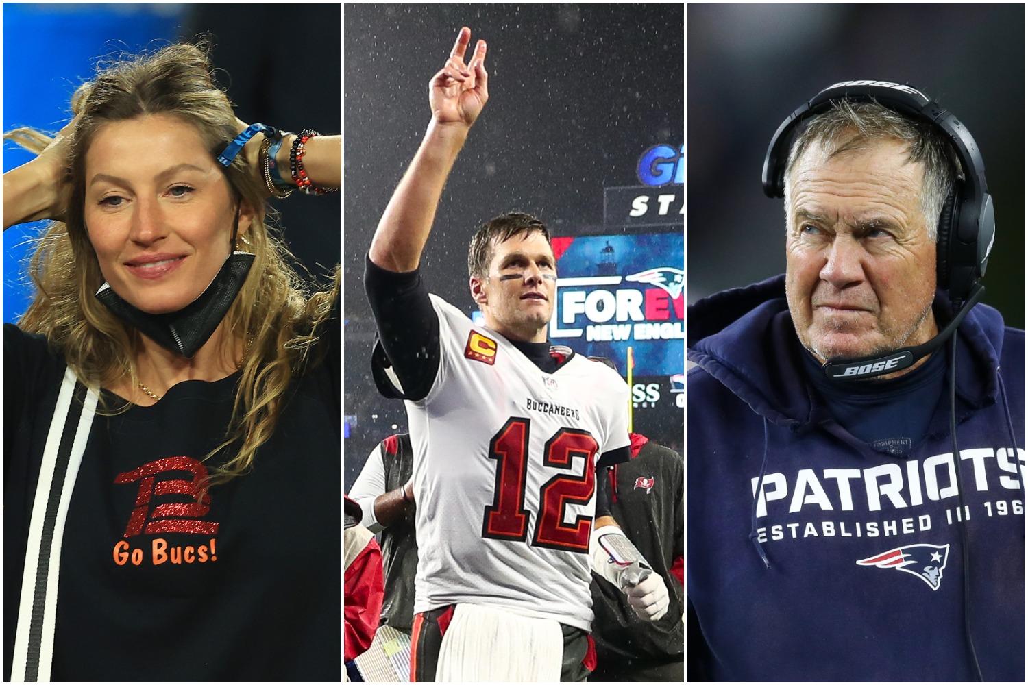
[[[895,139],[907,145],[907,161],[924,165],[921,212],[928,236],[939,235],[939,216],[947,195],[960,173],[960,162],[945,137],[933,126],[909,119],[875,102],[842,100],[832,109],[813,117],[797,137],[785,165],[785,212],[788,212],[793,166],[812,145],[819,145],[831,159],[857,149],[867,141]]]

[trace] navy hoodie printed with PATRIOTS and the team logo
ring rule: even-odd
[[[896,456],[830,415],[783,276],[687,320],[690,679],[1024,682],[1024,332],[960,325],[954,464],[948,361]]]

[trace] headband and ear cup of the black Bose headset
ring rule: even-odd
[[[842,100],[875,102],[915,121],[924,121],[952,144],[960,169],[939,217],[935,274],[939,288],[947,291],[951,302],[966,302],[978,294],[976,286],[985,275],[996,234],[992,197],[985,183],[982,154],[970,132],[920,90],[891,81],[842,81],[824,88],[793,112],[775,131],[764,159],[764,193],[768,197],[784,197],[785,163],[793,134],[803,121],[827,112]]]

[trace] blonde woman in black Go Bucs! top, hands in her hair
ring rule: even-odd
[[[340,142],[212,74],[171,45],[7,136],[39,154],[4,228],[52,221],[4,327],[5,680],[341,680],[338,278],[305,292],[265,224]]]

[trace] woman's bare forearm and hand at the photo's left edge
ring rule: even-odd
[[[71,186],[67,181],[75,119],[52,139],[26,128],[4,136],[30,150],[35,159],[3,175],[3,228],[30,221],[64,221]]]

